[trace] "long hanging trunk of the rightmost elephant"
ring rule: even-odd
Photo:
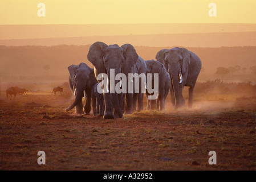
[[[174,109],[178,109],[178,107],[180,107],[180,78],[179,78],[180,72],[172,71],[172,69],[169,69],[169,71],[170,71],[169,72],[170,76],[172,77],[172,84],[173,84],[174,97],[175,97]]]

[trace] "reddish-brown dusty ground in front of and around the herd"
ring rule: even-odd
[[[122,119],[76,116],[72,97],[0,97],[2,170],[255,170],[255,96],[194,98],[194,109]],[[47,117],[44,117],[47,115]],[[37,163],[38,151],[46,165]],[[209,151],[217,165],[209,165]]]

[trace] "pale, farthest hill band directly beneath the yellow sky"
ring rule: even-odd
[[[255,31],[248,23],[17,24],[0,25],[0,40]]]

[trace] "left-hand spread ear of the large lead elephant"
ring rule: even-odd
[[[95,42],[91,45],[87,58],[94,65],[97,73],[105,73],[105,67],[103,64],[104,50],[107,48],[107,44],[103,42]]]

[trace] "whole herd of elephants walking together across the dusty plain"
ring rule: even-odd
[[[200,73],[202,63],[200,58],[193,52],[185,48],[161,49],[156,54],[155,60],[143,60],[131,44],[124,44],[119,47],[117,44],[107,45],[103,42],[95,42],[91,45],[88,60],[94,65],[94,68],[88,67],[85,63],[79,65],[70,65],[68,67],[70,88],[74,93],[75,100],[66,111],[76,107],[77,114],[99,114],[105,119],[122,118],[123,114],[132,114],[133,111],[144,109],[144,93],[108,93],[97,92],[97,85],[100,80],[97,76],[105,73],[110,77],[110,70],[115,70],[115,76],[118,73],[157,73],[159,74],[159,93],[156,100],[148,100],[147,109],[164,110],[165,100],[169,94],[172,98],[174,109],[185,105],[185,99],[182,96],[184,86],[189,87],[188,107],[192,107],[193,90],[196,85],[197,77]],[[153,81],[153,78],[152,78]],[[115,81],[115,85],[118,84]],[[109,84],[109,83],[108,83]],[[139,82],[133,84],[139,84]],[[146,90],[146,95],[148,96]],[[83,106],[82,98],[86,98]],[[91,104],[92,102],[92,104]]]

